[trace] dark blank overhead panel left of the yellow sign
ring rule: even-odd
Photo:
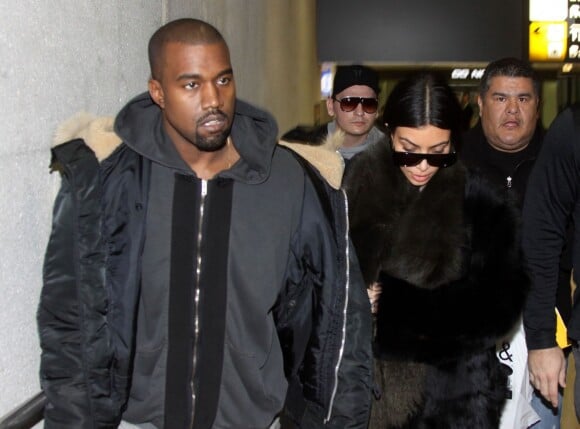
[[[319,61],[527,58],[527,26],[527,0],[317,1]]]

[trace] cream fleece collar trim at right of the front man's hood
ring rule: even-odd
[[[306,159],[318,170],[328,184],[334,189],[340,189],[342,175],[344,174],[344,159],[338,152],[344,141],[344,132],[337,131],[329,135],[323,144],[310,145],[304,143],[287,142],[280,140],[280,145],[285,146]]]

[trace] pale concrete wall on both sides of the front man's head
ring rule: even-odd
[[[23,0],[0,14],[0,416],[39,390],[36,307],[59,177],[52,133],[146,90],[146,46],[168,19],[206,19],[230,44],[238,95],[281,131],[316,103],[310,0]]]

